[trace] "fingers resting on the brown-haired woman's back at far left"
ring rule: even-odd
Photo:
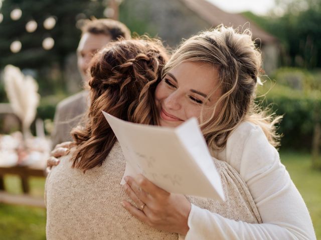
[[[52,166],[56,166],[59,164],[60,160],[58,159],[58,157],[67,155],[70,151],[70,148],[72,148],[75,144],[76,143],[73,141],[66,141],[55,146],[55,148],[50,153],[51,156],[47,159],[47,174],[51,171]]]

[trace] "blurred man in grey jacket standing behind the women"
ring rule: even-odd
[[[77,62],[81,77],[86,83],[89,79],[88,66],[92,56],[110,41],[115,41],[120,37],[129,39],[130,31],[123,23],[107,18],[88,20],[81,30]],[[52,147],[72,140],[70,131],[87,111],[88,100],[88,91],[83,90],[57,104],[51,136]]]

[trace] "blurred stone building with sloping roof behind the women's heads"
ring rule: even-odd
[[[182,38],[221,23],[250,28],[262,51],[265,71],[271,73],[277,67],[279,43],[274,36],[243,15],[225,12],[207,0],[123,0],[119,20],[139,34],[161,37],[172,47]]]

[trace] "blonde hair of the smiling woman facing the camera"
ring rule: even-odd
[[[254,102],[262,59],[250,30],[239,33],[232,27],[219,25],[215,29],[192,36],[172,55],[164,67],[162,77],[187,61],[209,64],[218,70],[219,84],[213,86],[212,94],[220,89],[222,95],[216,102],[211,117],[200,119],[204,137],[212,149],[223,149],[229,134],[243,120],[259,125],[269,142],[274,146],[278,145],[275,123],[280,117],[273,119],[267,113],[268,110],[261,110]],[[216,112],[218,107],[220,110]]]

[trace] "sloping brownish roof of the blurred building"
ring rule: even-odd
[[[276,41],[276,38],[274,36],[267,33],[241,14],[225,12],[207,0],[181,1],[212,26],[217,26],[223,23],[225,26],[244,26],[245,28],[249,27],[252,30],[253,38],[260,38],[263,44]]]

